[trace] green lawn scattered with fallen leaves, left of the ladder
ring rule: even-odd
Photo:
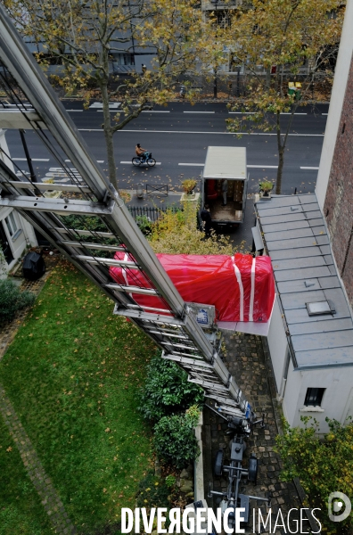
[[[150,430],[137,407],[155,348],[112,309],[111,300],[62,264],[0,363],[0,381],[85,534],[117,522],[122,506],[135,506],[137,482],[152,463]],[[11,496],[23,477],[7,474]],[[12,506],[27,514],[26,500],[22,493]],[[37,508],[29,522],[30,514]]]

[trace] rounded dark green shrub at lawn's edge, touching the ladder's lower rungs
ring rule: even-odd
[[[189,383],[187,374],[174,362],[157,354],[147,367],[140,410],[144,417],[157,421],[162,416],[185,411],[203,401],[202,389]]]

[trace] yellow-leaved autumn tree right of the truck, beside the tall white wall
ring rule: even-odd
[[[340,0],[252,0],[242,10],[232,12],[225,31],[223,39],[231,51],[234,69],[244,67],[245,95],[233,111],[247,112],[228,119],[228,128],[239,132],[245,123],[250,130],[275,129],[275,193],[281,193],[284,151],[293,115],[308,99],[319,70],[326,78],[333,76],[329,63],[341,37],[340,4]],[[300,69],[303,65],[307,65],[305,76]],[[300,93],[294,90],[288,95],[288,76],[295,79],[299,73]],[[285,127],[281,113],[289,114]]]

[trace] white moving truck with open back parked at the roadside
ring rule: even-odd
[[[222,193],[225,179],[226,206]],[[212,223],[226,226],[244,222],[248,181],[245,147],[208,147],[201,174],[201,210],[209,205]]]

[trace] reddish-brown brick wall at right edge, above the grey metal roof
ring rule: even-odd
[[[324,200],[324,216],[333,254],[353,306],[353,58]]]

